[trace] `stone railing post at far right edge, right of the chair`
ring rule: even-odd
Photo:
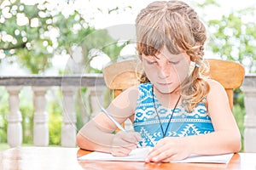
[[[244,117],[244,151],[256,152],[256,75],[246,76],[242,88],[246,109]]]

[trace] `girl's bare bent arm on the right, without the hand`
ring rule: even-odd
[[[207,96],[208,110],[215,132],[191,136],[195,154],[224,154],[241,149],[241,134],[230,111],[229,99],[224,88],[215,81],[209,81],[211,90]]]

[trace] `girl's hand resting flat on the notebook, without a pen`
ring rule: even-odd
[[[170,162],[183,160],[190,155],[191,147],[185,137],[166,137],[154,146],[145,162]]]

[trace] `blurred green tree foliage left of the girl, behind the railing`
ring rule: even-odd
[[[108,35],[106,30],[96,30],[90,26],[90,20],[85,20],[83,14],[73,9],[73,1],[55,2],[42,1],[35,4],[21,3],[20,0],[0,1],[0,63],[3,58],[10,58],[10,62],[18,62],[32,74],[44,74],[44,71],[52,66],[51,59],[55,54],[68,54],[68,60],[73,66],[67,68],[63,74],[77,74],[83,72],[101,72],[90,67],[93,55],[90,50],[98,48],[110,58],[117,58],[125,43],[119,45]],[[70,9],[67,14],[62,6]],[[101,9],[98,9],[101,10]],[[119,8],[108,9],[109,13]],[[77,59],[79,50],[81,59]],[[70,64],[70,63],[67,63]],[[85,69],[84,69],[85,68]],[[77,99],[84,98],[86,90],[82,89]],[[56,96],[54,96],[56,97]],[[61,98],[56,97],[55,102]],[[30,100],[31,101],[31,100]],[[88,99],[83,99],[87,101]],[[8,108],[7,101],[3,107]],[[49,104],[49,144],[60,144],[62,114],[59,103]],[[3,110],[2,107],[0,108]],[[24,143],[32,143],[32,106],[22,105]],[[83,112],[83,105],[78,106],[78,111]],[[8,111],[3,112],[1,118],[1,142],[6,142],[7,122],[2,121]],[[79,113],[78,113],[79,115]],[[82,114],[83,115],[83,114]],[[55,118],[52,118],[55,117]],[[78,116],[79,118],[79,116]],[[79,122],[79,121],[78,121]],[[80,123],[81,124],[81,123]],[[81,126],[81,125],[80,125]],[[3,128],[3,131],[2,131]]]

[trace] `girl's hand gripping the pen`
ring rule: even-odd
[[[142,140],[140,133],[119,131],[113,137],[110,153],[113,156],[128,156],[131,150],[137,148],[139,140]]]

